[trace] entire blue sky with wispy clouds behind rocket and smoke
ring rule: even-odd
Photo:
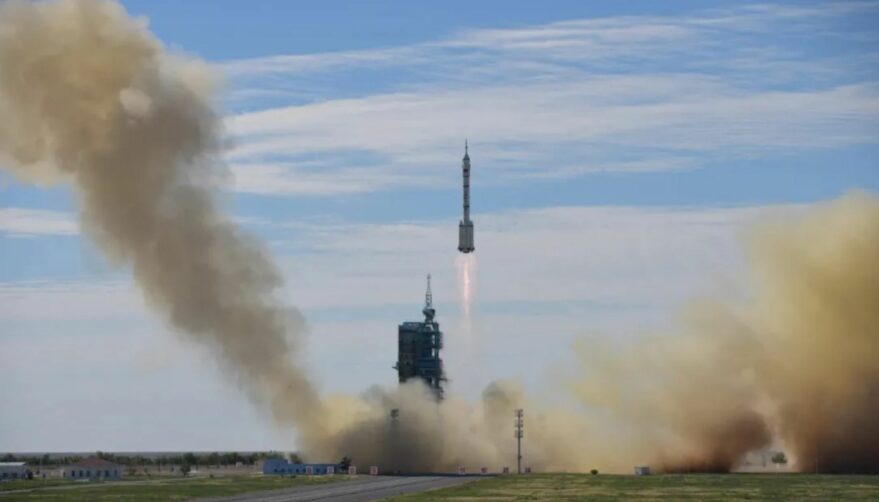
[[[123,3],[222,75],[221,197],[276,252],[327,391],[393,384],[395,324],[417,317],[427,272],[448,364],[477,383],[460,391],[536,388],[574,336],[662,329],[686,298],[736,290],[742,228],[763,211],[879,190],[877,2]],[[479,275],[475,337],[456,344],[464,138]],[[284,446],[79,237],[71,190],[0,176],[0,336],[20,354],[0,370],[19,383],[0,391],[0,450]],[[95,361],[95,388],[131,408],[106,427],[136,415],[142,438],[33,439],[57,424],[21,416],[103,406],[28,398],[44,378],[93,378]],[[163,392],[175,378],[191,383]],[[181,409],[229,418],[162,443]],[[240,423],[257,432],[230,433]]]

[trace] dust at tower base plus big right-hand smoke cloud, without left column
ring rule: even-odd
[[[348,421],[312,453],[410,472],[515,465],[525,408],[525,458],[540,469],[729,472],[775,447],[802,471],[879,472],[879,199],[763,220],[747,239],[746,301],[695,301],[675,332],[630,343],[582,337],[580,368],[560,382],[568,407],[514,382],[437,406],[407,384],[329,402]]]

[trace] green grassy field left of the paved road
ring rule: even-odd
[[[281,476],[218,476],[215,478],[172,478],[152,481],[122,481],[119,483],[76,483],[57,488],[40,489],[39,483],[30,487],[31,492],[0,492],[0,502],[14,500],[42,501],[102,501],[124,500],[126,502],[189,500],[196,497],[218,497],[262,490],[277,490],[292,486],[332,483],[347,476],[304,476],[285,478]],[[29,488],[19,486],[18,488]]]

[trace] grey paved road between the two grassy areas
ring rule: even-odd
[[[199,499],[204,502],[367,502],[405,493],[446,488],[479,479],[478,476],[361,476],[319,486],[298,486],[234,497]]]

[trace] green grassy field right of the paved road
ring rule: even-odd
[[[393,500],[879,500],[879,476],[533,474],[489,478]]]

